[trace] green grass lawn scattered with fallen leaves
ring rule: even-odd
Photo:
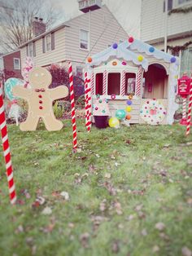
[[[74,154],[71,121],[63,122],[59,132],[8,127],[19,204],[9,204],[1,148],[0,255],[191,255],[192,137],[185,127],[93,127],[87,134],[78,120]],[[34,204],[37,196],[45,203]]]

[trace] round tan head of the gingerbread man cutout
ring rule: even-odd
[[[51,82],[52,77],[46,68],[33,68],[29,73],[29,84],[33,89],[46,89]]]

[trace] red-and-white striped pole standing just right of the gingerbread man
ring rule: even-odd
[[[72,76],[72,63],[68,64],[68,73],[69,73],[69,82],[70,82],[70,99],[72,106],[72,135],[73,135],[73,149],[77,147],[76,140],[76,110],[75,110],[75,97],[74,97],[74,88],[73,88],[73,76]]]

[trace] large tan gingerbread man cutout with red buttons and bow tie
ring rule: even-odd
[[[31,89],[22,86],[13,88],[15,96],[28,101],[28,117],[20,124],[20,130],[36,130],[40,117],[45,123],[46,130],[61,130],[63,123],[55,118],[52,103],[55,99],[68,96],[68,87],[49,89],[52,77],[46,68],[33,68],[28,78]]]

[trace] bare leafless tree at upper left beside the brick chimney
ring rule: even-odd
[[[0,8],[3,28],[0,44],[7,51],[13,51],[33,38],[32,23],[35,16],[43,18],[46,28],[50,29],[61,15],[44,0],[3,1],[4,7]]]

